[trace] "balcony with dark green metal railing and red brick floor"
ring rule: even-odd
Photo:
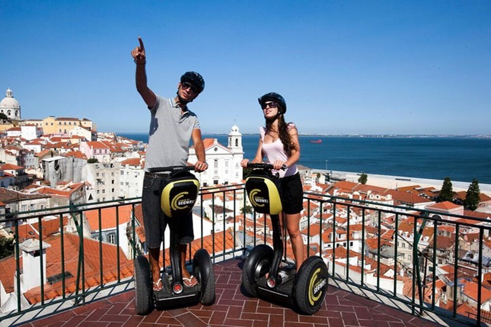
[[[243,185],[230,185],[201,191],[189,250],[189,258],[201,247],[212,254],[214,305],[136,315],[132,258],[145,254],[146,244],[140,199],[133,198],[3,215],[15,253],[0,260],[0,326],[491,323],[486,219],[442,219],[441,212],[313,192],[304,199],[305,252],[320,254],[330,273],[314,316],[243,295],[243,259],[253,246],[272,244],[271,232],[263,215],[241,214],[249,206]],[[478,248],[462,251],[476,233]],[[285,260],[292,257],[287,246]],[[169,263],[168,249],[163,261]]]

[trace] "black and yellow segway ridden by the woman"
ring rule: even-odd
[[[256,168],[246,178],[246,191],[256,212],[271,217],[273,249],[265,244],[252,249],[242,269],[242,285],[251,296],[293,306],[301,314],[312,315],[325,298],[327,267],[319,256],[307,258],[298,273],[295,266],[282,265],[279,178],[271,173],[271,164],[247,164],[247,167]],[[269,273],[267,279],[266,273]]]

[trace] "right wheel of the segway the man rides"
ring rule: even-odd
[[[210,255],[203,248],[196,251],[194,255],[193,274],[201,284],[201,304],[212,305],[215,303],[215,272]]]

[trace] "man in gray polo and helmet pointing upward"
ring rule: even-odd
[[[153,290],[160,291],[163,284],[160,275],[159,256],[162,236],[167,226],[168,217],[160,209],[160,192],[168,178],[168,174],[150,173],[148,168],[172,165],[186,165],[189,152],[189,139],[193,139],[198,162],[195,170],[206,170],[204,146],[201,138],[198,117],[187,107],[202,92],[204,81],[196,72],[186,72],[177,84],[177,95],[173,99],[165,99],[155,95],[146,85],[145,48],[141,37],[140,46],[131,55],[136,63],[136,87],[148,106],[151,115],[148,148],[145,158],[145,175],[142,193],[142,209],[145,228],[145,239],[149,248],[150,267],[153,279]],[[192,287],[198,282],[185,269],[187,244],[193,241],[192,214],[179,219],[179,250],[181,252],[181,268],[184,285]]]

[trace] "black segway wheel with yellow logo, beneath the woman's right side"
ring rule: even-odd
[[[298,311],[305,315],[316,313],[324,302],[327,284],[327,267],[322,258],[307,258],[296,274],[293,286]]]

